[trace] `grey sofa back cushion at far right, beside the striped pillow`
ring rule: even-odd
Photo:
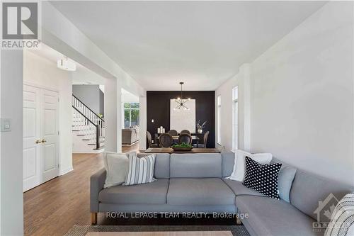
[[[290,202],[303,213],[316,219],[314,211],[319,207],[319,201],[324,201],[331,193],[339,201],[352,191],[353,186],[297,169],[290,191]]]

